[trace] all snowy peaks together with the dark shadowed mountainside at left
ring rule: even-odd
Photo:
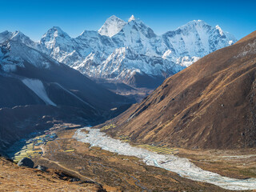
[[[10,146],[56,120],[94,124],[113,118],[134,102],[109,91],[113,85],[130,91],[130,86],[154,89],[205,54],[235,41],[219,26],[201,20],[157,35],[134,16],[128,22],[112,16],[100,30],[85,30],[77,38],[57,26],[39,42],[20,31],[4,31],[0,146]]]

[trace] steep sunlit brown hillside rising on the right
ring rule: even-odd
[[[256,33],[167,78],[112,135],[188,148],[256,146]]]

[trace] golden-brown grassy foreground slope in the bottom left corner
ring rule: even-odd
[[[18,167],[2,157],[0,157],[0,172],[0,191],[106,191],[96,183],[70,182],[70,175],[59,170],[42,172]]]

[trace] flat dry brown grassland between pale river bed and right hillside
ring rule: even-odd
[[[179,150],[179,157],[189,158],[203,170],[231,178],[256,178],[256,149]]]

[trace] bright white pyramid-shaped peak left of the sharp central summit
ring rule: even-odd
[[[118,18],[115,15],[112,15],[110,18],[106,19],[104,25],[98,30],[98,33],[101,35],[106,35],[108,37],[113,37],[117,34],[122,27],[126,25],[121,18]]]

